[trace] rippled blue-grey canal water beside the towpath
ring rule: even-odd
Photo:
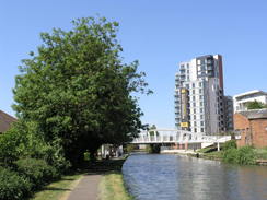
[[[136,154],[125,162],[123,173],[136,200],[267,200],[267,166]]]

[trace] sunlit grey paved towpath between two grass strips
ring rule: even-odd
[[[98,174],[85,175],[70,192],[67,200],[97,200],[101,178],[102,175]]]

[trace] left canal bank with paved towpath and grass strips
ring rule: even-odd
[[[131,200],[125,188],[121,167],[126,158],[88,163],[84,169],[63,176],[44,187],[31,200]]]

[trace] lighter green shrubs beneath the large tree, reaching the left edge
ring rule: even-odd
[[[47,144],[38,134],[36,123],[18,120],[4,134],[0,134],[0,164],[11,166],[20,157],[44,158],[58,172],[65,173],[70,164],[59,142]]]

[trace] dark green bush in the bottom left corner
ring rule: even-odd
[[[0,200],[22,200],[31,193],[31,184],[15,172],[0,167]]]

